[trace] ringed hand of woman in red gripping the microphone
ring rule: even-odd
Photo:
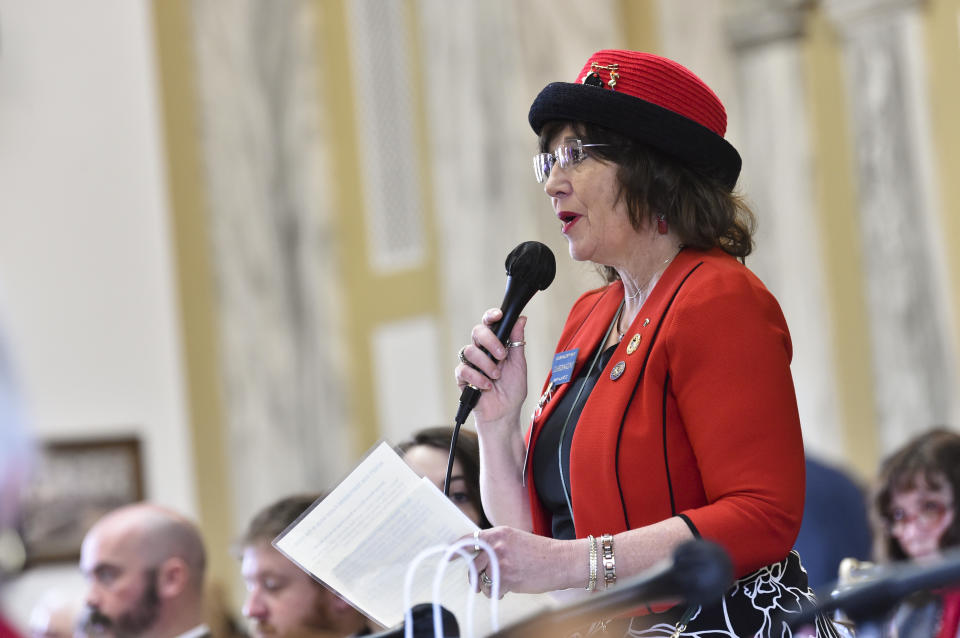
[[[457,385],[462,390],[467,384],[481,391],[473,412],[479,422],[510,418],[516,422],[520,408],[527,398],[527,360],[523,345],[507,348],[490,326],[501,319],[499,308],[483,313],[482,322],[473,327],[473,342],[460,352],[469,363],[460,363],[455,371]],[[520,317],[510,332],[508,343],[523,344],[527,318]],[[496,360],[480,348],[485,348]]]

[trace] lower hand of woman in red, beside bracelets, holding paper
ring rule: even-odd
[[[469,537],[468,537],[469,538]],[[500,566],[500,595],[508,591],[525,594],[542,593],[573,587],[579,571],[578,563],[571,562],[567,554],[576,554],[575,545],[583,545],[579,561],[586,572],[588,548],[587,541],[559,541],[546,536],[538,536],[513,527],[494,527],[480,530],[480,540],[493,547]],[[481,551],[474,558],[478,573],[493,578],[490,556]],[[573,572],[573,573],[571,573]],[[490,586],[478,579],[479,590],[490,596]],[[586,584],[586,576],[583,578]]]

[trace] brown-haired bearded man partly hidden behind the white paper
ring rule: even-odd
[[[321,494],[288,496],[261,510],[240,540],[243,615],[256,638],[343,638],[370,633],[366,617],[271,544]]]

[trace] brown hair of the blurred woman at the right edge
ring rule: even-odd
[[[960,545],[960,434],[945,428],[935,428],[909,441],[880,466],[877,491],[874,497],[874,525],[876,553],[881,560],[909,558],[897,539],[890,534],[890,503],[894,492],[918,487],[918,481],[929,487],[948,484],[953,490],[953,524],[940,538],[940,547]]]

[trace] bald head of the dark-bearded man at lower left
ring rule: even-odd
[[[192,619],[205,567],[200,533],[180,514],[147,503],[116,509],[94,524],[81,547],[89,622],[120,638]]]

